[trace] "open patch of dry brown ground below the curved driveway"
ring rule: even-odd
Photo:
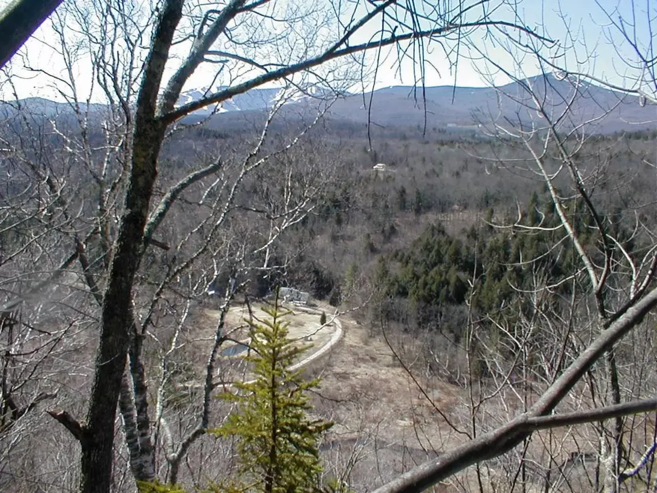
[[[306,367],[321,377],[315,413],[335,423],[321,447],[329,473],[348,469],[350,484],[367,488],[463,442],[440,415],[463,415],[461,388],[411,376],[380,331],[340,321],[340,342]]]

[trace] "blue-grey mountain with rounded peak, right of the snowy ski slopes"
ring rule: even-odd
[[[497,88],[386,87],[374,91],[372,95],[338,100],[330,114],[352,122],[367,122],[369,119],[383,126],[472,128],[478,124],[487,126],[493,121],[507,127],[510,122],[537,122],[539,126],[544,126],[545,119],[537,114],[532,95],[525,84],[530,85],[537,99],[544,103],[552,121],[559,120],[568,108],[568,116],[562,119],[562,129],[585,125],[595,126],[598,133],[612,133],[657,128],[654,106],[643,107],[636,97],[590,83],[580,83],[575,88],[567,80],[553,75],[538,76]],[[575,91],[578,95],[573,99]],[[597,118],[602,115],[604,118],[598,121]]]

